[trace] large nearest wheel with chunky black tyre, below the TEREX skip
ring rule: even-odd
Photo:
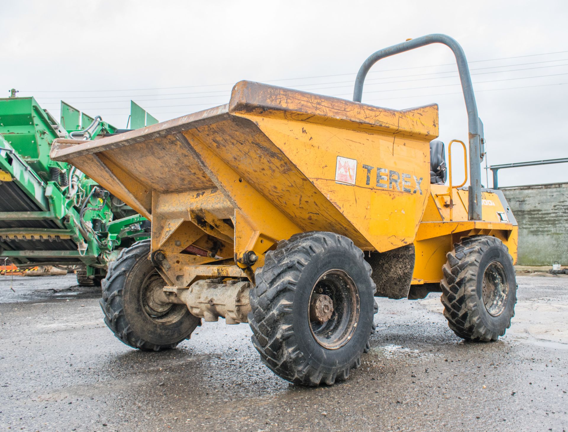
[[[306,232],[266,253],[250,290],[252,342],[275,374],[331,385],[361,365],[377,304],[363,252],[331,232]]]

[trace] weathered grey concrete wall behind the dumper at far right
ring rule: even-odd
[[[568,265],[568,183],[500,188],[519,223],[519,265]]]

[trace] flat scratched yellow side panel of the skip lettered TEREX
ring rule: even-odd
[[[248,117],[374,250],[412,243],[429,194],[429,138]],[[356,161],[354,184],[336,180],[337,156]]]

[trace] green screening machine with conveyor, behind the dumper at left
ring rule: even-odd
[[[49,158],[56,138],[97,139],[120,130],[61,101],[57,122],[34,98],[0,99],[0,258],[19,268],[75,269],[100,285],[119,250],[149,237],[149,221],[68,163]],[[131,103],[131,125],[157,122]],[[2,261],[0,261],[2,264]]]

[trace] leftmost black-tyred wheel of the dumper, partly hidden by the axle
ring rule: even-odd
[[[190,337],[201,320],[185,304],[153,302],[164,279],[148,259],[150,240],[123,249],[102,281],[105,323],[126,345],[148,351],[174,348]]]

